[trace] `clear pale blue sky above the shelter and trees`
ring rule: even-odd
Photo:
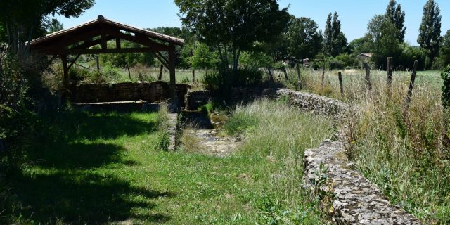
[[[418,28],[427,0],[397,0],[406,12],[406,41],[417,45]],[[435,0],[441,8],[442,34],[450,29],[450,1]],[[309,17],[323,30],[328,13],[337,11],[342,32],[347,39],[363,37],[367,23],[376,14],[385,13],[389,0],[279,0],[281,7],[290,4],[289,12],[297,17]],[[96,0],[93,8],[79,18],[58,17],[65,28],[93,20],[97,15],[136,27],[181,27],[179,9],[172,0]]]

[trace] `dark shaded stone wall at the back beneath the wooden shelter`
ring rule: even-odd
[[[176,84],[176,93],[184,103],[184,95],[191,86]],[[98,103],[115,101],[162,101],[169,98],[167,82],[117,83],[117,84],[72,84],[70,100],[74,103]],[[182,105],[183,106],[183,105]]]

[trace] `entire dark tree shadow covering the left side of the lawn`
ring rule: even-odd
[[[113,171],[96,169],[113,163],[121,164],[125,170],[139,165],[122,158],[122,146],[101,140],[154,131],[153,122],[127,113],[58,116],[51,124],[49,136],[30,146],[27,160],[31,169],[16,172],[8,179],[12,197],[8,199],[11,207],[6,214],[22,218],[19,221],[25,224],[168,221],[168,214],[153,213],[153,199],[171,198],[174,193],[139,188],[115,176]]]

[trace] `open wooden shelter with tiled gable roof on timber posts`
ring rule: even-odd
[[[140,44],[139,48],[122,48],[121,40]],[[115,40],[115,48],[108,48],[107,42]],[[139,29],[114,22],[98,15],[82,25],[48,34],[30,42],[32,51],[46,55],[60,56],[63,61],[63,84],[69,85],[68,70],[82,54],[101,53],[143,53],[150,52],[160,60],[170,72],[170,98],[175,98],[175,46],[183,45],[184,40],[157,32]],[[101,48],[91,47],[100,45]],[[167,52],[166,58],[161,52]],[[68,62],[68,55],[75,55],[73,62]]]

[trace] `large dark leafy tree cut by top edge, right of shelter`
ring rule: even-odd
[[[181,21],[200,41],[215,46],[228,68],[228,50],[233,70],[238,69],[240,51],[255,41],[271,41],[288,24],[288,8],[279,9],[276,0],[175,0]]]

